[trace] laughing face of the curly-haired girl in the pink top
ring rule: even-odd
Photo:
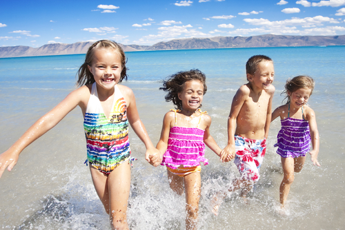
[[[178,96],[182,101],[182,109],[195,111],[204,98],[204,85],[199,80],[186,81],[184,90],[179,92]]]

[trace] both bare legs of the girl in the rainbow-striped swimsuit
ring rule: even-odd
[[[126,211],[130,193],[130,165],[122,163],[108,176],[90,167],[97,195],[110,215],[113,229],[128,229]]]

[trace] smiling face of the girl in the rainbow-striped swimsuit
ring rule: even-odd
[[[95,50],[92,63],[88,65],[97,85],[105,90],[119,83],[122,68],[120,55],[111,48]]]

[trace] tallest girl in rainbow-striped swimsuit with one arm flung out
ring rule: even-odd
[[[146,146],[145,158],[159,165],[159,151],[152,145],[139,118],[135,96],[119,85],[126,75],[126,56],[113,41],[90,46],[79,68],[80,86],[26,131],[10,149],[0,155],[0,176],[17,164],[19,154],[34,140],[55,127],[79,105],[84,116],[88,163],[92,182],[110,216],[112,229],[128,229],[126,211],[130,194],[130,145],[128,125]]]

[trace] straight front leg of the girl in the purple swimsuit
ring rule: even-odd
[[[279,187],[279,197],[280,197],[280,204],[282,207],[285,206],[286,198],[288,197],[288,192],[290,191],[290,186],[293,182],[294,175],[294,159],[292,157],[282,158],[282,167],[284,171],[284,178],[282,183]]]

